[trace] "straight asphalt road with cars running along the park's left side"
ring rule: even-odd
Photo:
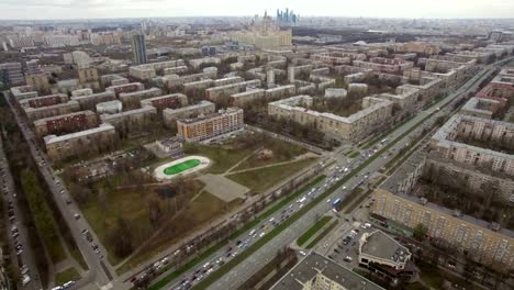
[[[102,290],[107,290],[110,288],[123,289],[122,286],[118,288],[115,283],[111,282],[112,278],[115,277],[115,271],[107,260],[105,248],[101,245],[100,241],[96,236],[94,232],[92,231],[91,226],[88,224],[86,219],[75,219],[74,215],[76,213],[79,213],[80,216],[82,215],[80,213],[80,210],[75,203],[68,204],[66,202],[66,199],[70,197],[68,190],[62,185],[59,177],[52,169],[45,154],[37,148],[35,143],[35,136],[27,123],[21,118],[20,113],[11,103],[10,99],[5,98],[5,100],[9,103],[9,107],[11,108],[11,111],[13,112],[16,119],[16,122],[23,133],[25,141],[30,145],[31,154],[35,163],[38,165],[37,169],[40,170],[46,183],[48,185],[48,189],[51,190],[53,198],[60,213],[64,216],[64,220],[68,223],[71,236],[74,237],[80,253],[82,254],[82,257],[86,260],[86,264],[89,267],[86,277],[82,277],[82,279],[77,281],[76,288]],[[91,247],[92,243],[88,242],[85,235],[82,234],[82,231],[85,230],[89,231],[89,233],[92,235],[92,243],[96,243],[98,245],[100,250],[98,254],[94,253],[93,248]]]

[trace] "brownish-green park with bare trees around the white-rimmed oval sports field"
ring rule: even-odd
[[[205,226],[233,214],[317,159],[303,147],[262,135],[231,138],[217,145],[186,144],[186,157],[160,159],[147,169],[116,172],[86,186],[71,186],[87,198],[77,202],[124,272]],[[209,165],[202,167],[203,159]],[[159,181],[153,172],[179,175]],[[194,175],[183,175],[192,169]],[[220,190],[221,188],[221,190]]]

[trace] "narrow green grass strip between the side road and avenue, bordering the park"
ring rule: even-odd
[[[303,186],[299,191],[297,191],[295,193],[293,194],[290,194],[288,197],[286,197],[284,199],[282,199],[281,201],[277,202],[273,207],[271,207],[269,210],[265,211],[262,214],[260,214],[257,219],[255,219],[254,221],[247,223],[245,226],[243,226],[242,228],[237,230],[234,234],[232,234],[231,236],[228,236],[228,241],[230,239],[235,239],[237,236],[239,236],[241,234],[247,232],[248,230],[250,230],[252,227],[256,226],[257,224],[259,224],[262,220],[266,220],[268,216],[270,216],[271,214],[276,213],[277,211],[279,211],[281,208],[283,208],[286,204],[288,204],[289,202],[295,200],[299,196],[301,196],[303,192],[305,192],[308,189],[314,187],[315,185],[322,182],[323,180],[325,179],[325,176],[324,175],[321,175],[316,178],[314,178],[312,181],[310,181],[309,183],[306,183],[305,186]],[[208,250],[203,252],[202,254],[200,254],[197,258],[190,260],[189,263],[187,263],[185,266],[182,266],[181,268],[170,272],[168,276],[166,276],[165,278],[163,278],[161,280],[155,282],[154,285],[152,285],[148,290],[158,290],[158,289],[161,289],[164,288],[166,285],[168,285],[169,282],[171,282],[172,280],[177,279],[178,277],[180,277],[182,274],[187,272],[188,270],[192,269],[194,266],[197,266],[200,261],[209,258],[209,256],[213,255],[214,253],[216,253],[217,250],[220,250],[221,248],[223,248],[225,245],[227,245],[227,241],[223,241],[223,242],[220,242],[217,243],[216,245],[212,246],[211,248],[209,248]]]

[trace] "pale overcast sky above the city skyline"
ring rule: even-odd
[[[514,0],[0,0],[1,19],[254,15],[367,18],[514,18]]]

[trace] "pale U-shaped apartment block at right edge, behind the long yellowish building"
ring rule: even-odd
[[[483,144],[478,147],[471,144]],[[514,176],[514,155],[487,148],[488,144],[514,144],[514,124],[457,114],[432,137],[431,147],[445,158]]]

